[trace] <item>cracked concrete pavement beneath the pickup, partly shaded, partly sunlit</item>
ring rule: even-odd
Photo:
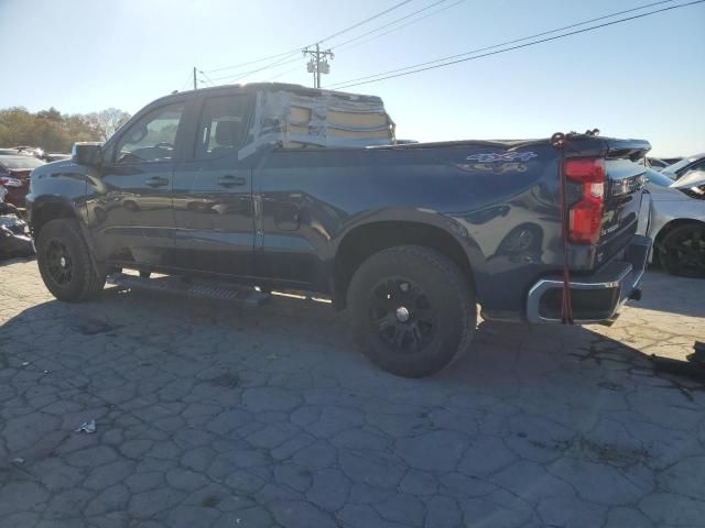
[[[0,527],[705,524],[705,280],[649,273],[611,327],[481,323],[429,380],[345,314],[106,290],[0,266]],[[75,432],[95,419],[94,435]]]

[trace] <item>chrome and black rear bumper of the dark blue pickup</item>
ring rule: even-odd
[[[573,321],[579,324],[611,319],[638,289],[650,250],[651,239],[634,235],[621,255],[594,274],[571,277]],[[528,321],[561,322],[562,295],[561,274],[538,280],[527,296]]]

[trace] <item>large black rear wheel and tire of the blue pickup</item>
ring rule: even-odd
[[[348,306],[362,353],[403,377],[448,366],[466,351],[477,326],[475,292],[458,266],[416,245],[367,258],[350,282]]]

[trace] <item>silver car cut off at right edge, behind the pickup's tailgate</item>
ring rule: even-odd
[[[653,258],[673,275],[705,277],[705,174],[674,180],[647,169],[651,195],[648,234]]]

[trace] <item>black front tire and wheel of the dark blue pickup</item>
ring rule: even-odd
[[[47,222],[36,240],[36,256],[42,279],[58,300],[88,300],[106,284],[106,274],[97,270],[75,220]]]

